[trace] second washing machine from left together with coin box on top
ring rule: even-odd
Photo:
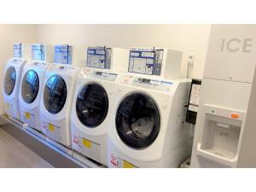
[[[39,107],[46,61],[54,61],[53,47],[32,44],[32,61],[26,62],[20,80],[20,120],[38,131],[42,131]]]

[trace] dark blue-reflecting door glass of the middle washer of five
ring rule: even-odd
[[[44,87],[44,106],[49,113],[59,113],[67,99],[67,86],[60,75],[51,76]]]

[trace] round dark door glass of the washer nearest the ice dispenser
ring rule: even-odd
[[[160,113],[151,97],[133,93],[119,104],[115,123],[125,144],[132,148],[146,148],[160,131]]]

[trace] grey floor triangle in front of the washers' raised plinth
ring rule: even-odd
[[[47,161],[0,129],[0,167],[50,168]]]

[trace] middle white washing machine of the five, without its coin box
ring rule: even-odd
[[[67,64],[47,67],[40,101],[42,131],[67,147],[71,145],[70,114],[79,71]]]

